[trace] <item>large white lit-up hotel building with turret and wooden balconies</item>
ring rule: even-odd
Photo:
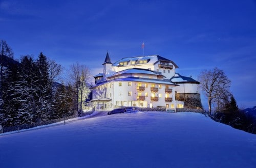
[[[178,66],[159,55],[122,58],[112,64],[107,52],[102,65],[103,73],[94,76],[92,100],[88,102],[95,109],[111,110],[120,106],[182,108],[186,106],[185,91],[198,94],[200,99],[199,82],[176,74]],[[177,94],[183,95],[176,100]]]

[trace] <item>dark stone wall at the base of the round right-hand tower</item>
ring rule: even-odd
[[[175,99],[184,101],[185,108],[202,108],[200,94],[198,93],[176,93]]]

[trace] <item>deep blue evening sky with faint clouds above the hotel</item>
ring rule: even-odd
[[[15,59],[42,51],[93,74],[102,71],[107,50],[115,62],[142,55],[144,41],[145,55],[174,61],[181,75],[223,69],[239,107],[256,105],[255,0],[0,0],[0,39]]]

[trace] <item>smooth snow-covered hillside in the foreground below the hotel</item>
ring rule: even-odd
[[[256,135],[197,113],[138,112],[0,135],[0,167],[255,167]]]

